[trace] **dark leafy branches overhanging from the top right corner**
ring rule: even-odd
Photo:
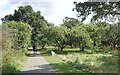
[[[82,21],[91,13],[93,13],[92,22],[102,20],[103,18],[107,19],[110,15],[113,17],[120,15],[120,13],[117,13],[120,8],[119,2],[74,2],[74,4],[75,8],[73,10],[78,12],[78,17],[82,18]]]

